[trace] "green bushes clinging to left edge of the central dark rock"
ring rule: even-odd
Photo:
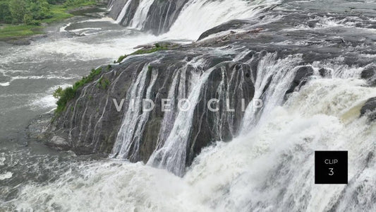
[[[98,69],[92,69],[89,76],[84,76],[80,81],[76,82],[72,87],[68,87],[66,89],[63,89],[61,87],[57,88],[53,93],[54,98],[59,99],[56,102],[57,107],[55,110],[55,114],[60,114],[61,112],[66,110],[66,104],[70,100],[75,98],[77,90],[85,86],[85,84],[94,81],[95,77],[98,76],[100,73],[102,73],[102,67]],[[99,84],[100,86],[102,86],[103,89],[106,89],[107,86],[109,85],[108,79],[102,80],[102,78],[100,78],[99,81],[100,81]]]

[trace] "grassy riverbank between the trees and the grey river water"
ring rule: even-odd
[[[72,18],[73,16],[80,16],[80,11],[97,8],[99,6],[104,6],[104,4],[98,4],[95,1],[87,1],[75,6],[52,5],[52,17],[41,20],[41,25],[0,25],[0,41],[28,44],[27,41],[24,41],[25,38],[28,38],[32,35],[44,34],[44,28],[50,23],[65,20],[66,18]],[[18,40],[20,40],[21,42],[18,42]]]

